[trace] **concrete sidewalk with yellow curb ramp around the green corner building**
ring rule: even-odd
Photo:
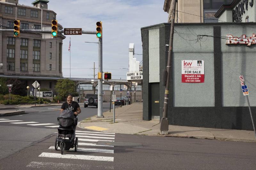
[[[85,119],[79,122],[78,126],[102,132],[160,136],[159,120],[142,120],[142,103],[134,103],[116,108],[115,123],[113,123],[113,110],[105,112],[103,115],[104,118],[92,116]],[[168,135],[161,136],[256,142],[254,131],[174,125],[169,125]]]

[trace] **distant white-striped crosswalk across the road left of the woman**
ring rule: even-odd
[[[28,126],[44,126],[44,127],[50,127],[50,128],[59,127],[59,125],[57,125],[55,123],[24,122],[22,120],[0,119],[0,123],[1,122],[8,122],[8,123],[12,123],[12,124],[26,124]],[[48,126],[46,126],[46,125],[48,125]],[[49,125],[51,125],[51,126],[49,126]]]

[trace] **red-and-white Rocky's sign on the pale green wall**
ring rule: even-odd
[[[234,37],[231,34],[227,34],[226,44],[247,44],[247,46],[251,46],[252,44],[256,44],[256,34],[253,33],[251,37],[246,37],[245,34],[241,37]]]

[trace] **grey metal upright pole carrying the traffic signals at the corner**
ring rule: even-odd
[[[98,42],[98,63],[99,72],[103,73],[102,68],[102,38],[99,38]],[[102,81],[103,79],[98,79],[98,115],[97,117],[104,117],[103,115],[103,104],[102,104]]]

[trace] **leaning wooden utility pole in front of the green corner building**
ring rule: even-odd
[[[166,66],[167,78],[166,78],[165,92],[164,92],[163,117],[161,118],[161,123],[160,123],[160,134],[168,134],[168,129],[169,129],[169,121],[167,118],[167,113],[168,113],[168,103],[169,103],[169,82],[170,82],[171,65],[172,65],[172,44],[173,44],[176,0],[173,0],[172,2],[173,2],[173,5],[172,5],[172,16],[171,16],[171,32],[170,32],[170,41],[169,41],[168,62]]]

